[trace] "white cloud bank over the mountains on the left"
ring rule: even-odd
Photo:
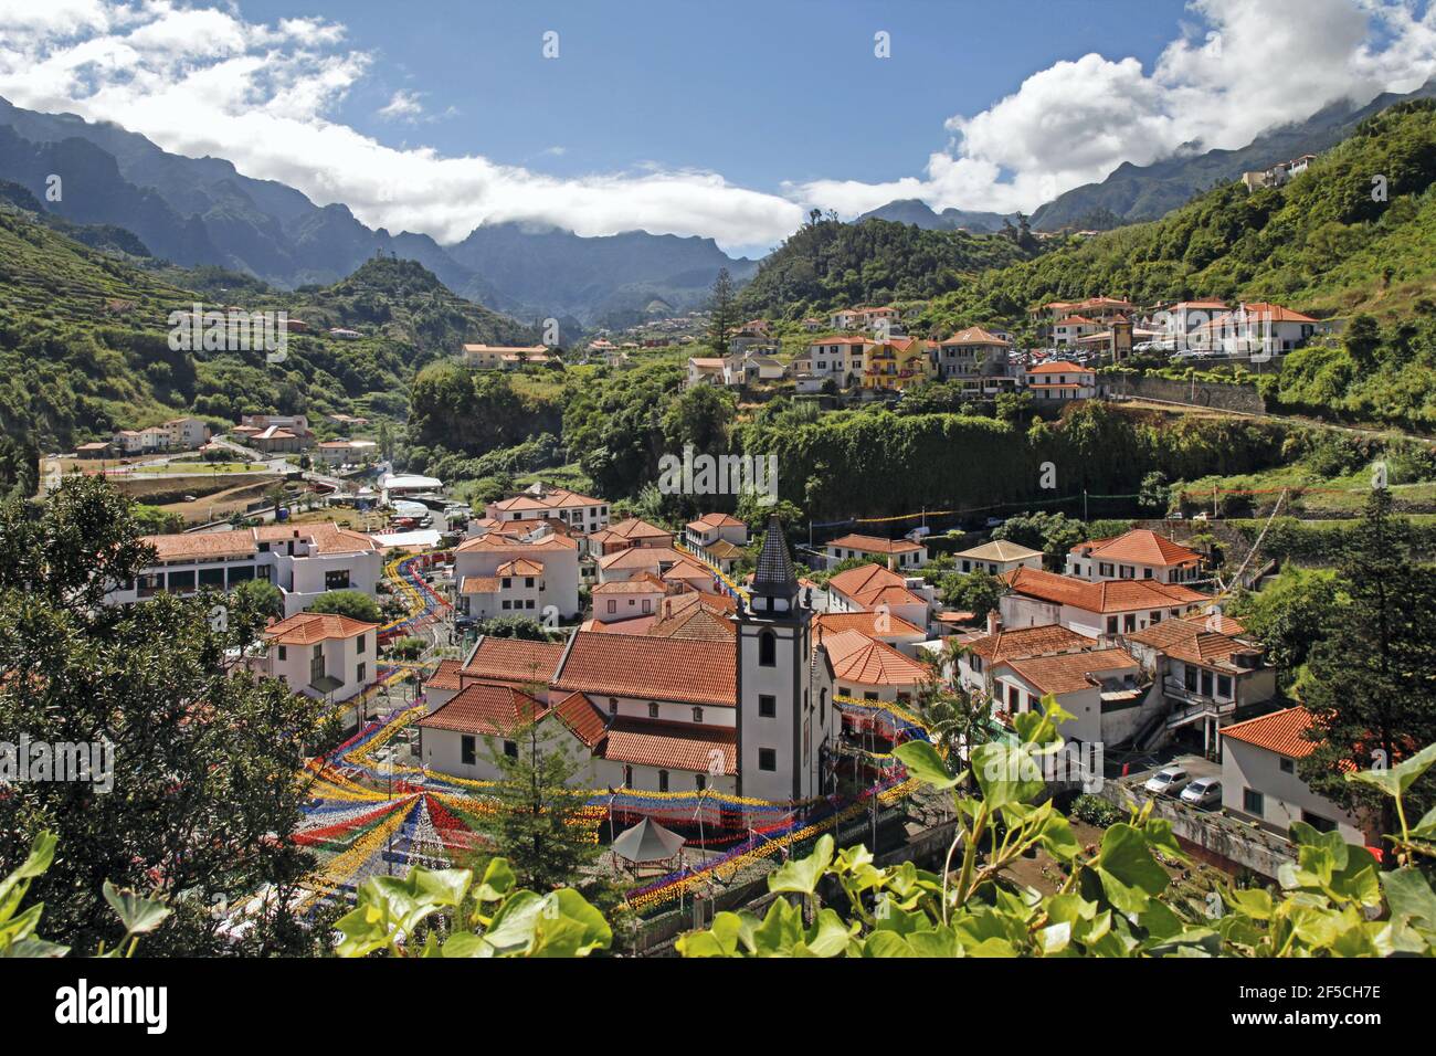
[[[246,175],[283,181],[319,204],[342,201],[372,227],[447,243],[484,220],[538,220],[579,234],[645,228],[764,246],[803,218],[798,203],[714,172],[636,165],[556,178],[482,157],[388,147],[333,119],[372,57],[346,50],[343,27],[320,19],[258,24],[231,7],[175,0],[47,4],[0,0],[0,95],[113,121],[178,154],[228,158]],[[431,119],[421,95],[406,91],[379,115]]]

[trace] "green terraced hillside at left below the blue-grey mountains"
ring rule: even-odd
[[[202,290],[185,287],[191,277]],[[273,366],[260,352],[174,352],[168,316],[197,302],[283,309],[310,332],[290,335],[287,359]],[[330,326],[362,336],[339,341]],[[0,435],[27,458],[180,412],[225,422],[241,411],[399,420],[425,362],[465,341],[534,339],[412,261],[370,260],[332,287],[283,293],[218,269],[151,270],[0,208]],[[11,461],[0,453],[0,473]]]

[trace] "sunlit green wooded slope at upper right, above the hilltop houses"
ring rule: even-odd
[[[1373,178],[1386,178],[1386,200]],[[1221,297],[1304,310],[1409,310],[1436,276],[1436,102],[1391,106],[1281,188],[1223,184],[1167,217],[982,274],[928,322],[1021,316],[1047,300]]]

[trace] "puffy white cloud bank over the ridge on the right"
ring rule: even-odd
[[[1343,98],[1369,102],[1436,73],[1436,7],[1416,0],[1192,0],[1200,26],[1136,59],[1086,55],[1027,78],[974,116],[923,178],[886,184],[819,180],[796,200],[852,216],[893,198],[935,208],[1031,211],[1057,194],[1146,165],[1186,144],[1245,147]]]

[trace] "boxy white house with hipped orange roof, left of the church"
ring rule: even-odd
[[[339,703],[375,680],[378,624],[327,612],[299,612],[264,629],[264,674],[290,690]]]

